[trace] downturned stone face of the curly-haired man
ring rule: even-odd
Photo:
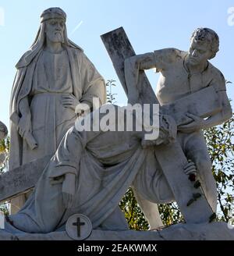
[[[211,46],[207,42],[191,41],[190,51],[189,51],[189,62],[190,65],[199,65],[201,63],[207,62],[212,55]]]

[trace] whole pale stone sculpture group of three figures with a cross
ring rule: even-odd
[[[202,130],[232,116],[224,76],[208,61],[218,52],[218,35],[198,28],[188,52],[165,48],[142,55],[135,55],[122,28],[101,37],[128,103],[148,104],[146,116],[157,118],[158,126],[144,120],[140,130],[118,130],[120,121],[132,116],[137,123],[145,111],[126,108],[122,120],[113,113],[108,119],[111,106],[115,113],[122,109],[105,104],[105,80],[67,37],[66,13],[46,9],[34,43],[16,64],[9,172],[47,155],[51,160],[33,190],[12,198],[0,236],[64,232],[75,214],[86,215],[93,229],[127,230],[119,201],[129,187],[151,229],[162,226],[157,204],[175,200],[186,223],[215,219],[216,184]],[[153,68],[161,73],[156,94],[144,75]],[[83,123],[91,129],[77,129]],[[149,128],[158,134],[151,140]]]

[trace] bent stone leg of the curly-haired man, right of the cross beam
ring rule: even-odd
[[[198,177],[204,190],[205,197],[213,212],[217,209],[217,187],[212,174],[211,158],[202,132],[191,133],[186,136],[184,150],[186,157],[197,166]]]

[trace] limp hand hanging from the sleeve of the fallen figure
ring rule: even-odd
[[[62,183],[62,197],[66,208],[71,208],[76,189],[76,176],[73,173],[66,173]]]

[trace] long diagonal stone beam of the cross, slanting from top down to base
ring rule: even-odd
[[[101,39],[105,44],[108,55],[112,59],[115,72],[119,76],[122,87],[129,98],[128,92],[133,91],[134,88],[127,87],[124,62],[125,59],[135,55],[133,47],[122,27],[101,35]],[[156,95],[154,94],[151,84],[147,80],[147,76],[143,70],[140,70],[138,80],[140,81],[140,86],[138,86],[136,90],[138,90],[139,103],[158,103]],[[190,102],[191,101],[193,103],[197,101],[196,95],[194,97],[193,95],[190,95]],[[216,101],[212,104],[215,105],[215,102]],[[217,106],[217,108],[218,107],[219,106]],[[166,112],[168,112],[168,110],[166,110]],[[203,115],[204,113],[201,113],[200,116]],[[176,123],[177,125],[179,124],[178,122]],[[183,171],[184,166],[188,162],[179,142],[155,147],[155,155],[186,222],[201,223],[211,221],[211,218],[212,216],[214,217],[214,215],[211,206],[207,203],[207,200],[204,197],[203,191],[200,187],[194,186],[194,183],[188,179],[188,176]],[[198,197],[198,194],[202,196]]]

